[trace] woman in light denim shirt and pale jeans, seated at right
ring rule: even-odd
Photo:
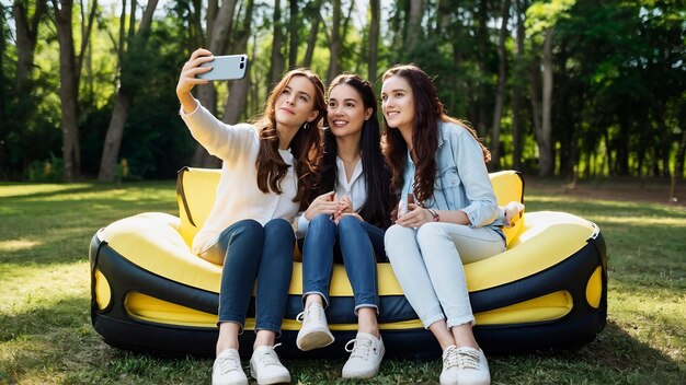
[[[443,349],[441,384],[490,384],[471,330],[462,267],[505,250],[502,211],[485,168],[490,153],[471,128],[445,115],[420,68],[397,66],[382,80],[385,155],[391,188],[403,199],[386,232],[386,253],[408,301]],[[404,198],[409,194],[416,203]]]

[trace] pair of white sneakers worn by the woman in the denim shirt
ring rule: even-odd
[[[489,363],[481,349],[449,346],[443,352],[441,385],[489,385]]]

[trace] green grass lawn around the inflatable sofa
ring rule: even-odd
[[[679,384],[686,378],[686,210],[527,189],[527,211],[596,222],[609,255],[608,325],[569,351],[489,357],[494,384]],[[0,384],[201,384],[211,360],[105,345],[90,323],[88,246],[144,211],[176,214],[174,184],[0,184]],[[339,360],[284,360],[294,383],[346,383]],[[244,362],[247,364],[247,362]],[[438,359],[385,360],[373,384],[435,383]]]

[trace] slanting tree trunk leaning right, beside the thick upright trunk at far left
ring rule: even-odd
[[[127,63],[130,55],[132,46],[145,45],[148,39],[150,25],[152,24],[152,14],[157,8],[158,0],[148,0],[146,10],[144,11],[138,32],[129,30],[128,49],[124,50],[124,61],[122,62],[122,72],[129,71]],[[132,13],[135,13],[135,9],[132,9]],[[133,36],[132,36],[133,34]],[[119,156],[119,148],[122,145],[122,138],[124,137],[124,126],[128,118],[128,112],[136,94],[136,86],[129,84],[122,75],[122,84],[117,91],[117,95],[112,110],[112,118],[107,126],[107,133],[105,135],[105,142],[103,145],[102,158],[100,159],[100,172],[98,173],[98,179],[101,182],[114,182],[115,170],[117,159]]]

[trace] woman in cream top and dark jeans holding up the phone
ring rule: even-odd
[[[201,258],[222,265],[219,338],[213,384],[248,384],[238,353],[238,336],[256,280],[255,341],[250,373],[258,384],[290,382],[274,342],[281,332],[293,270],[295,234],[290,222],[307,207],[316,185],[319,125],[327,114],[319,77],[293,70],[272,90],[264,114],[252,124],[225,125],[193,97],[207,80],[197,74],[213,60],[197,49],[176,85],[181,117],[193,137],[221,159],[217,199],[193,240]]]

